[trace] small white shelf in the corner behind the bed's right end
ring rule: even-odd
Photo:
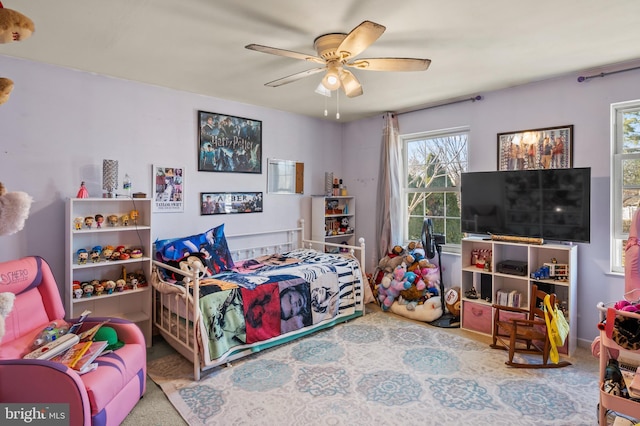
[[[348,221],[347,232],[340,231],[342,220]],[[355,245],[356,199],[352,196],[311,196],[311,239],[333,244]],[[325,251],[335,247],[326,246]]]

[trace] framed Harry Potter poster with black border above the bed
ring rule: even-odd
[[[198,171],[262,173],[262,121],[198,111]]]

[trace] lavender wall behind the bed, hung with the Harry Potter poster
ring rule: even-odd
[[[0,237],[0,261],[26,255],[47,259],[62,288],[65,200],[81,181],[102,194],[102,160],[119,161],[133,192],[152,191],[152,165],[185,169],[184,213],[154,214],[154,238],[202,232],[224,222],[229,233],[310,223],[311,194],[324,190],[325,171],[342,169],[341,125],[192,93],[108,78],[0,56],[3,77],[15,82],[0,106],[0,181],[34,198],[25,228]],[[276,96],[274,89],[274,96]],[[261,175],[197,171],[197,111],[262,121]],[[266,160],[305,163],[305,194],[267,194]],[[200,216],[199,193],[263,191],[264,212]],[[307,226],[307,236],[310,231]]]

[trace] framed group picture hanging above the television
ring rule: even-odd
[[[573,125],[498,133],[498,170],[570,169]]]

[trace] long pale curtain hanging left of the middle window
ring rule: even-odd
[[[388,112],[384,116],[376,205],[378,259],[386,256],[392,246],[402,244],[401,148],[398,117]]]

